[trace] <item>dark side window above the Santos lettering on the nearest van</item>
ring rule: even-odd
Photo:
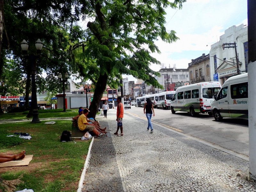
[[[230,85],[230,91],[232,99],[248,98],[248,83]]]

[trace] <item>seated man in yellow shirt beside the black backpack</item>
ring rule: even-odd
[[[84,113],[81,114],[77,120],[78,128],[81,131],[87,130],[87,131],[92,131],[97,137],[105,135],[105,133],[99,133],[97,129],[95,128],[94,124],[90,124],[87,122],[86,116],[88,115],[89,111],[88,109],[84,109]]]

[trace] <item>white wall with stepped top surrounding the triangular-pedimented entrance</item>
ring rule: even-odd
[[[211,68],[211,80],[213,81],[213,74],[215,74],[214,69],[214,56],[218,57],[219,59],[223,60],[226,58],[227,60],[235,60],[236,62],[236,53],[234,48],[225,48],[222,49],[221,45],[223,43],[234,43],[236,42],[237,46],[237,53],[238,53],[238,60],[242,62],[242,66],[240,70],[245,70],[245,58],[244,58],[244,43],[248,41],[248,35],[247,35],[248,27],[244,27],[244,24],[241,24],[239,26],[232,26],[225,30],[225,34],[220,36],[220,41],[218,41],[215,44],[211,45],[210,50],[210,68]],[[231,58],[231,59],[230,59]],[[223,63],[223,61],[217,59],[217,68],[220,66],[220,64]],[[220,81],[220,79],[219,79]]]

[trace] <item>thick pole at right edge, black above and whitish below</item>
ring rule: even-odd
[[[247,0],[248,13],[248,117],[249,117],[249,176],[256,181],[256,4]]]

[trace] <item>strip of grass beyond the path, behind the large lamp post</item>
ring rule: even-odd
[[[97,113],[99,115],[100,112]],[[55,117],[74,117],[78,115],[78,111],[76,112],[54,112],[54,113],[39,113],[38,117],[40,118],[55,118]],[[33,117],[26,117],[27,114],[20,113],[5,113],[0,115],[0,119],[33,119]]]

